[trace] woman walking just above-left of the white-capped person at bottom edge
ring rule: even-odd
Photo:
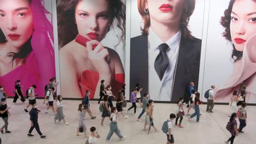
[[[84,137],[89,137],[87,136],[86,134],[86,125],[84,123],[84,116],[85,116],[85,113],[84,113],[84,106],[83,104],[79,104],[78,106],[78,121],[79,121],[79,125],[78,125],[78,128],[77,128],[77,136],[80,136],[79,135],[79,128],[82,127],[83,130],[84,130]]]

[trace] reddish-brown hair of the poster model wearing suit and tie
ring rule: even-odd
[[[148,30],[150,27],[150,15],[145,12],[145,5],[147,0],[138,0],[138,11],[141,14],[141,17],[144,21],[144,27],[141,27],[141,31],[143,35],[148,35]],[[195,0],[185,0],[185,4],[188,5],[187,9],[183,11],[181,23],[179,28],[181,28],[183,37],[185,39],[193,39],[194,37],[191,35],[191,32],[188,29],[189,17],[193,14],[195,9]]]

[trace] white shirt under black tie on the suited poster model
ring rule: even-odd
[[[150,99],[159,101],[170,101],[172,93],[173,75],[176,66],[179,44],[181,41],[181,31],[173,35],[167,41],[162,41],[151,28],[149,28],[148,35],[148,68],[149,68],[149,95]],[[155,71],[155,58],[158,56],[160,50],[158,46],[166,43],[169,49],[166,51],[169,63],[165,71],[162,81],[160,81],[158,74]]]

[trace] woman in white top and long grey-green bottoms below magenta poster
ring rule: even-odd
[[[68,125],[69,123],[67,123],[65,121],[65,115],[63,114],[63,110],[62,110],[62,97],[61,95],[57,96],[57,113],[54,117],[54,122],[56,123],[56,121],[58,120],[59,122],[62,120],[64,122],[64,124]]]

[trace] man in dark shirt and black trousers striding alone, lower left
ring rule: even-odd
[[[41,138],[46,137],[45,135],[43,135],[40,131],[39,128],[39,124],[38,124],[38,110],[37,110],[37,104],[36,103],[32,103],[32,109],[30,110],[30,122],[31,122],[31,127],[30,127],[30,131],[28,131],[28,136],[34,136],[32,135],[32,131],[34,128],[36,128],[37,133],[40,135]]]

